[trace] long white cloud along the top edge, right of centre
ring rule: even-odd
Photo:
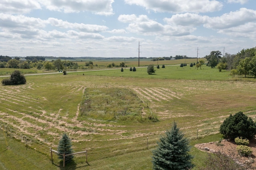
[[[129,5],[143,6],[154,12],[214,12],[222,9],[223,4],[216,0],[124,0]]]

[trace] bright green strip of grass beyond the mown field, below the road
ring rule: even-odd
[[[197,68],[190,66],[166,66],[165,68],[156,69],[155,74],[147,74],[147,68],[136,68],[136,71],[130,71],[126,68],[124,72],[121,72],[120,68],[116,70],[99,70],[99,71],[87,71],[87,72],[70,72],[72,75],[86,75],[86,76],[108,76],[108,77],[127,77],[127,78],[153,78],[153,79],[180,79],[180,80],[233,80],[230,76],[230,72],[222,70],[219,72],[217,68],[210,68],[206,65]],[[253,79],[252,79],[253,80]]]

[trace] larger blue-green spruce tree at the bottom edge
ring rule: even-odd
[[[185,170],[192,168],[192,156],[189,154],[188,139],[179,131],[174,122],[171,129],[165,132],[157,142],[158,146],[152,151],[154,170]]]

